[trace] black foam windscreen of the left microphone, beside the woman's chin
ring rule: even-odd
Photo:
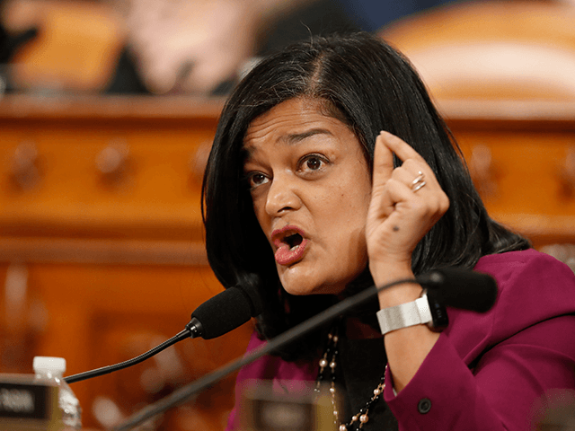
[[[261,314],[262,310],[255,286],[233,286],[199,305],[191,317],[201,323],[203,339],[215,339]]]

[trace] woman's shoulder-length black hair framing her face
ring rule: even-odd
[[[450,207],[413,251],[415,275],[447,266],[473,268],[484,255],[529,247],[525,238],[488,216],[459,147],[405,57],[367,33],[298,42],[263,59],[229,97],[202,186],[209,264],[226,287],[253,275],[260,280],[261,336],[272,338],[333,301],[329,295],[295,296],[283,290],[242,180],[246,129],[264,112],[297,97],[321,101],[325,115],[346,124],[363,145],[368,166],[377,134],[387,130],[409,143],[435,172]],[[372,283],[366,270],[347,290]],[[288,359],[312,355],[316,336],[279,353]]]

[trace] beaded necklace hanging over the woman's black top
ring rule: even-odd
[[[320,370],[317,374],[317,380],[315,381],[315,393],[320,393],[321,384],[326,381],[328,378],[330,379],[330,394],[332,396],[332,408],[333,408],[333,423],[338,427],[339,431],[357,431],[369,420],[369,409],[373,407],[377,400],[379,400],[384,393],[385,389],[385,370],[387,370],[387,365],[385,365],[384,374],[381,376],[379,380],[379,384],[377,384],[376,389],[374,389],[373,396],[370,400],[366,402],[366,405],[358,411],[357,414],[351,417],[349,423],[341,423],[340,422],[340,412],[338,411],[337,406],[337,396],[336,396],[336,389],[335,389],[335,369],[337,367],[337,359],[339,356],[339,349],[338,349],[338,341],[339,338],[339,328],[340,325],[336,325],[335,328],[328,334],[327,336],[327,346],[325,347],[325,351],[323,352],[323,357],[320,359]],[[329,368],[329,371],[328,371]],[[329,374],[329,375],[328,375]]]

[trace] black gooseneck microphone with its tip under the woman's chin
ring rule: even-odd
[[[186,325],[185,330],[181,330],[173,338],[164,341],[164,343],[140,356],[119,364],[102,366],[95,370],[70,375],[65,377],[64,380],[66,383],[75,383],[128,368],[128,366],[139,364],[147,358],[155,356],[182,339],[195,339],[198,337],[213,339],[224,335],[263,311],[263,304],[256,286],[256,277],[248,277],[248,279],[243,280],[243,286],[228,287],[224,292],[208,299],[208,301],[199,305],[192,312],[191,321]]]

